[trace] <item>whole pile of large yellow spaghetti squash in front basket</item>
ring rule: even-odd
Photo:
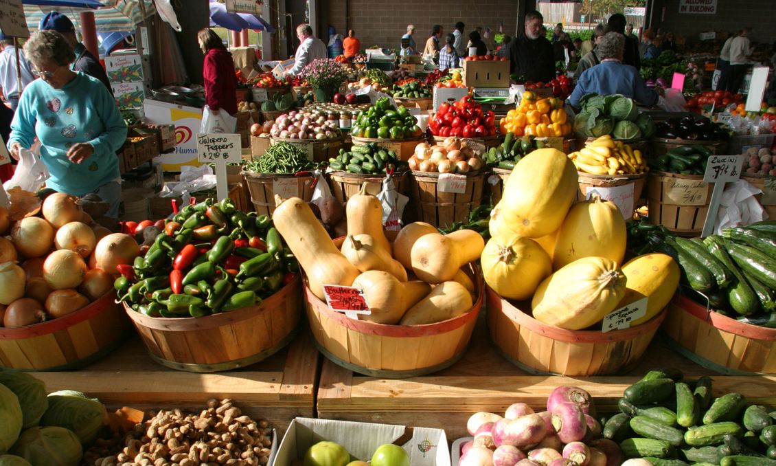
[[[534,318],[563,329],[590,328],[643,297],[646,315],[632,325],[646,322],[673,296],[677,264],[650,254],[622,266],[618,207],[598,196],[573,204],[577,189],[577,170],[563,152],[539,149],[518,162],[491,212],[480,257],[486,283],[501,297],[530,299]]]

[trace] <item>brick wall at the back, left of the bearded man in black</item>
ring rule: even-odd
[[[407,24],[411,23],[415,25],[417,47],[422,50],[434,24],[444,26],[446,34],[452,33],[455,24],[462,21],[466,24],[464,33],[468,35],[474,26],[497,30],[503,21],[504,33],[514,35],[517,4],[514,0],[349,0],[349,27],[355,30],[363,48],[372,45],[397,48],[401,36],[407,32]],[[326,10],[321,12],[321,20],[345,35],[345,0],[327,0],[321,2],[321,8]],[[327,40],[325,34],[321,39]]]

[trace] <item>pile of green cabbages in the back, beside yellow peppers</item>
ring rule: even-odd
[[[625,96],[586,94],[580,99],[582,111],[574,117],[574,133],[580,137],[601,137],[634,141],[649,139],[656,128],[652,118],[639,113],[636,102]]]

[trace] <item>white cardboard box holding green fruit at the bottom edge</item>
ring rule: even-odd
[[[324,440],[345,447],[353,460],[369,461],[383,443],[397,443],[407,450],[412,466],[450,464],[450,447],[442,429],[296,418],[286,430],[271,466],[289,466],[302,460],[309,447]]]

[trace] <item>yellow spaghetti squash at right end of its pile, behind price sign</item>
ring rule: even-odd
[[[634,257],[622,266],[622,273],[628,279],[625,295],[615,309],[647,298],[646,314],[631,322],[640,325],[650,320],[665,308],[674,297],[679,286],[681,273],[671,256],[654,253]]]

